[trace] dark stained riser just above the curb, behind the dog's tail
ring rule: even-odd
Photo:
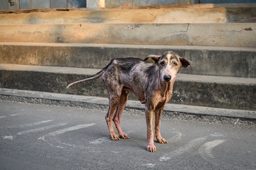
[[[66,88],[69,83],[88,77],[77,74],[0,70],[0,85],[2,88],[19,90],[107,97],[101,79]],[[255,91],[255,84],[187,82],[177,79],[170,103],[255,111]],[[130,95],[129,99],[137,100],[137,97]]]

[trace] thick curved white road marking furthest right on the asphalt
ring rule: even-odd
[[[211,162],[211,160],[214,158],[212,155],[212,149],[223,142],[225,142],[225,140],[217,139],[212,142],[204,143],[204,145],[199,148],[199,153],[205,160]]]

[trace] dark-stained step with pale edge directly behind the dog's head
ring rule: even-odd
[[[183,74],[256,78],[256,48],[241,47],[0,42],[0,63],[102,69],[112,58],[168,50],[193,62]]]

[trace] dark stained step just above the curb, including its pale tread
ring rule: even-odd
[[[0,86],[18,90],[107,97],[101,79],[69,83],[88,78],[97,69],[72,67],[0,65]],[[234,78],[178,74],[170,103],[216,108],[256,110],[256,78]],[[134,95],[130,100],[137,100]]]

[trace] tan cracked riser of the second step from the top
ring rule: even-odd
[[[0,25],[2,42],[256,47],[256,23]]]

